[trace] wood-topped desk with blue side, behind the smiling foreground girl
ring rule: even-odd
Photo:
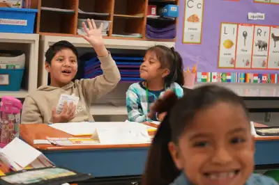
[[[264,127],[256,123],[255,126]],[[149,148],[148,144],[73,147],[33,145],[34,139],[45,139],[46,136],[73,137],[47,124],[21,124],[20,136],[29,145],[43,152],[56,166],[91,173],[93,177],[142,175]],[[256,137],[256,165],[279,164],[278,146],[279,136]]]

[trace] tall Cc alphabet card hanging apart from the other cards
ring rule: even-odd
[[[186,0],[183,44],[201,44],[204,0]]]

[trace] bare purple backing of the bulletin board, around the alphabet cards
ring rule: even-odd
[[[186,1],[187,0],[180,1],[179,26],[175,44],[176,50],[179,51],[179,54],[181,54],[183,58],[185,67],[193,67],[193,64],[197,63],[198,72],[279,72],[279,70],[218,69],[221,22],[279,26],[279,4],[254,3],[253,0],[204,0],[202,44],[190,45],[182,43],[184,7]],[[248,20],[248,13],[265,13],[265,19]]]

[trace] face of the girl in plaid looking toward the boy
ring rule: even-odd
[[[146,81],[150,81],[165,78],[167,74],[169,74],[169,70],[161,68],[156,53],[148,51],[144,56],[142,65],[140,65],[140,77]]]

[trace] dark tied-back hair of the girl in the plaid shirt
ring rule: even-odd
[[[166,86],[170,86],[173,82],[183,86],[183,61],[180,54],[174,50],[174,47],[169,48],[163,45],[156,45],[149,48],[148,51],[155,52],[161,66],[169,69],[169,75],[165,79]]]

